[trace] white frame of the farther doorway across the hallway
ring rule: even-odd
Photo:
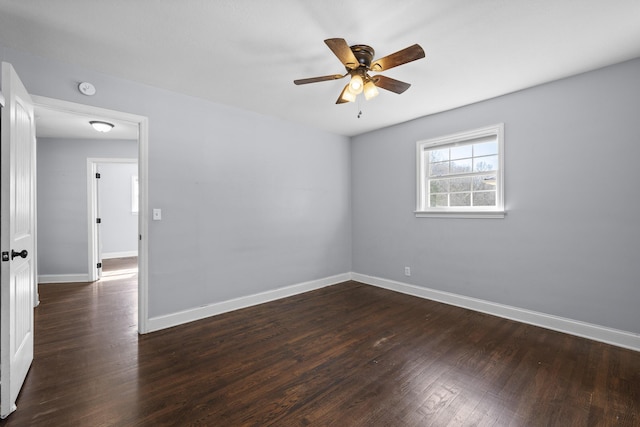
[[[98,268],[96,265],[102,260],[102,253],[98,248],[98,224],[96,218],[99,212],[96,207],[98,206],[98,192],[96,186],[98,181],[96,179],[96,172],[98,171],[98,165],[101,163],[115,163],[115,164],[131,164],[138,163],[138,159],[131,158],[87,158],[87,224],[89,225],[89,239],[88,239],[88,253],[89,253],[89,281],[93,282],[100,278],[98,274]],[[139,215],[139,214],[138,214]],[[138,224],[140,225],[140,224]],[[140,235],[140,233],[138,233]],[[140,240],[140,239],[138,239]]]

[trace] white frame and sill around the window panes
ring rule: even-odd
[[[429,207],[429,165],[427,150],[436,147],[466,145],[476,139],[496,136],[498,140],[498,171],[496,171],[496,206]],[[459,132],[416,143],[416,217],[436,218],[504,218],[504,123]]]

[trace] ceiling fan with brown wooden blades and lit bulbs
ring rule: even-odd
[[[347,70],[346,74],[331,74],[329,76],[298,79],[294,80],[293,83],[304,85],[351,76],[351,80],[344,89],[342,89],[336,104],[354,102],[356,96],[363,92],[364,97],[369,100],[378,95],[377,88],[386,89],[398,94],[404,92],[411,86],[409,83],[382,75],[370,76],[369,72],[385,71],[398,65],[424,58],[425,56],[424,50],[420,45],[414,44],[391,55],[373,60],[375,51],[371,46],[364,44],[349,46],[344,39],[327,39],[324,42],[338,57],[340,62],[342,62]]]

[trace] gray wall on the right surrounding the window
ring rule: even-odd
[[[634,60],[353,138],[353,271],[640,333],[639,76]],[[506,218],[415,218],[416,141],[499,122]]]

